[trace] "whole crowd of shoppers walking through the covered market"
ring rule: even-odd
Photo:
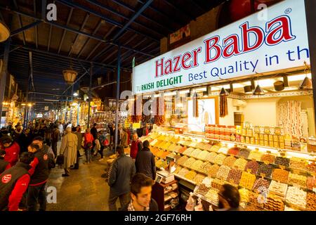
[[[120,210],[157,211],[157,203],[151,198],[156,177],[154,155],[150,151],[149,141],[142,142],[138,137],[139,133],[149,134],[149,127],[146,125],[140,132],[133,134],[120,125],[118,128],[116,148],[114,124],[110,124],[105,131],[98,131],[97,124],[93,124],[84,133],[81,133],[80,126],[45,121],[34,126],[29,124],[24,130],[21,124],[17,124],[15,129],[11,124],[1,129],[0,211],[46,210],[46,182],[51,169],[55,167],[56,158],[57,161],[58,157],[62,158],[62,162],[58,162],[65,170],[62,176],[70,176],[70,169],[79,169],[81,148],[86,154],[85,165],[91,164],[98,154],[103,160],[105,148],[117,154],[108,178],[109,210],[117,210],[119,199]],[[107,133],[110,139],[107,139]],[[57,143],[60,139],[58,153]],[[228,186],[222,189],[219,195],[220,207],[237,210],[238,191],[236,193]]]

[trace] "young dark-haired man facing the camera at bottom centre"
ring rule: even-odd
[[[125,205],[122,211],[158,211],[158,205],[152,199],[152,186],[154,181],[145,176],[145,174],[137,173],[131,179],[131,202]]]

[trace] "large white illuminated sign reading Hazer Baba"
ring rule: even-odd
[[[308,64],[304,0],[287,0],[133,68],[133,93],[216,82]]]

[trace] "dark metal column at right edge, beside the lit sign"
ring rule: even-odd
[[[310,50],[310,72],[312,74],[312,96],[314,100],[314,118],[316,122],[316,1],[305,0],[308,45]]]

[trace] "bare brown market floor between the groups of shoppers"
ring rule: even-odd
[[[84,155],[83,150],[81,155]],[[109,154],[107,154],[109,155]],[[57,203],[48,203],[48,211],[107,211],[107,199],[110,188],[104,175],[106,160],[99,162],[100,155],[90,165],[84,165],[85,157],[80,158],[79,169],[62,177],[63,169],[54,168],[47,182],[47,187],[57,190]],[[117,203],[119,204],[119,203]]]

